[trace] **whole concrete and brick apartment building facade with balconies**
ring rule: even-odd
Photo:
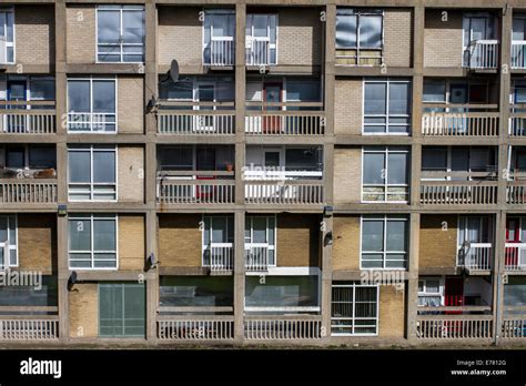
[[[525,33],[518,0],[2,4],[0,342],[524,342]]]

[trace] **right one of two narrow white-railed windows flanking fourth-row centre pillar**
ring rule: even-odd
[[[245,220],[245,255],[246,265],[276,265],[276,217],[247,216]]]

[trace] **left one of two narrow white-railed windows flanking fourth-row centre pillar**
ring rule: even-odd
[[[232,270],[234,264],[234,217],[203,216],[203,266]]]

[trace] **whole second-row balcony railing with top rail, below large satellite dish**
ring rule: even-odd
[[[233,134],[235,132],[233,106],[233,102],[162,101],[156,111],[158,133],[179,135]]]

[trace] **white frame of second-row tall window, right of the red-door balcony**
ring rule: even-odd
[[[385,83],[386,84],[386,92],[385,92],[385,114],[365,114],[365,85],[367,83]],[[390,114],[390,85],[392,83],[407,83],[409,84],[409,94],[408,94],[408,101],[407,104],[409,106],[409,114]],[[413,122],[411,121],[413,116],[413,95],[412,91],[413,90],[413,83],[411,80],[396,80],[396,79],[391,79],[391,78],[364,78],[362,82],[362,135],[401,135],[401,136],[409,136],[411,133],[413,132]],[[383,133],[368,133],[365,131],[366,125],[380,125],[378,123],[365,123],[365,118],[385,118],[385,132]],[[390,124],[390,116],[391,118],[407,118],[408,122],[407,124]],[[407,132],[406,133],[398,133],[398,132],[391,132],[390,128],[394,126],[407,126]]]

